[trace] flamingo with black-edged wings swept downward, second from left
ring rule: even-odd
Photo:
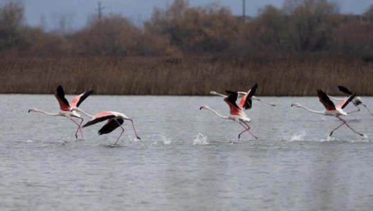
[[[98,135],[109,134],[111,131],[113,131],[117,127],[121,127],[122,132],[120,133],[118,139],[116,140],[116,143],[118,143],[118,140],[119,140],[120,136],[122,136],[123,132],[125,131],[125,129],[122,127],[122,124],[123,124],[123,122],[125,122],[125,120],[129,120],[129,121],[131,121],[132,127],[134,128],[136,138],[138,138],[138,140],[141,140],[141,138],[138,137],[138,135],[136,133],[134,122],[130,118],[125,116],[125,114],[118,113],[116,111],[102,111],[100,113],[96,113],[91,118],[91,120],[89,120],[89,122],[87,122],[85,125],[83,125],[83,127],[88,127],[90,125],[95,125],[96,123],[102,122],[104,120],[107,120],[107,123],[98,131]],[[114,145],[116,145],[116,143],[114,143]]]

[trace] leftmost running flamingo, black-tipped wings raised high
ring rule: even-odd
[[[83,138],[82,129],[80,127],[80,125],[82,125],[83,118],[81,118],[80,114],[77,113],[76,111],[82,111],[81,109],[78,108],[79,105],[92,93],[93,93],[93,90],[84,92],[76,96],[75,98],[73,98],[73,100],[71,100],[71,103],[69,104],[69,102],[65,98],[64,89],[62,88],[62,86],[58,86],[55,91],[55,98],[57,98],[57,101],[60,104],[60,111],[58,111],[57,113],[48,113],[46,111],[32,108],[32,109],[28,109],[28,113],[30,113],[30,111],[33,111],[33,112],[44,113],[48,116],[64,116],[66,118],[69,118],[71,121],[75,123],[75,125],[78,126],[78,129],[75,132],[75,138],[78,138],[78,131],[80,131],[80,135],[82,135],[82,138]],[[87,115],[87,113],[84,111],[82,111],[82,113]],[[78,122],[73,120],[73,118],[80,119],[80,123],[78,124]]]

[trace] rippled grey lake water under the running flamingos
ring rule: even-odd
[[[67,96],[71,100],[73,96]],[[246,111],[253,134],[226,115],[219,97],[99,96],[89,113],[133,118],[120,134],[98,136],[104,122],[84,128],[55,112],[53,95],[0,95],[0,210],[373,210],[373,117],[361,108],[340,121],[318,98],[266,97]],[[373,98],[363,97],[373,110]],[[345,110],[353,111],[349,104]],[[84,122],[89,118],[84,117]]]

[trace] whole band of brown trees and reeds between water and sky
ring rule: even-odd
[[[73,33],[25,26],[19,0],[0,8],[0,93],[372,95],[373,15],[342,15],[335,1],[285,0],[257,17],[215,3],[174,0],[154,8],[143,28],[121,15],[93,19]]]

